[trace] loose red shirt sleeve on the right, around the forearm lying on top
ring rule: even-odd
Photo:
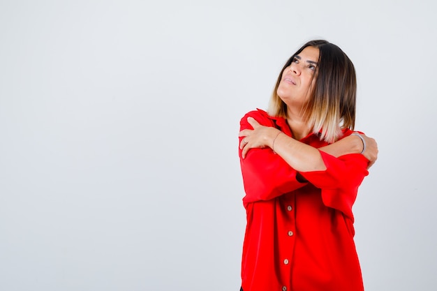
[[[337,209],[353,220],[352,207],[358,187],[369,172],[367,159],[361,154],[347,154],[338,158],[320,151],[325,171],[300,172],[322,191],[323,203]]]

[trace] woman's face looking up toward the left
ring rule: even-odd
[[[283,70],[281,82],[276,94],[288,107],[302,108],[311,94],[316,77],[319,57],[317,47],[305,47],[300,54],[295,56],[290,66]]]

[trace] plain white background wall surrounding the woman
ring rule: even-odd
[[[437,290],[433,1],[0,1],[0,290],[239,290],[239,119],[339,45],[368,291]]]

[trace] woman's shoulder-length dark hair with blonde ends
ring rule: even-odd
[[[316,81],[303,110],[313,133],[321,133],[321,140],[332,143],[341,137],[342,129],[355,127],[357,79],[352,61],[338,46],[326,40],[311,40],[288,59],[276,80],[267,112],[274,117],[287,118],[287,105],[276,91],[283,71],[309,46],[317,47],[320,54],[314,75]]]

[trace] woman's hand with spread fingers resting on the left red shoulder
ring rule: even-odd
[[[272,148],[274,137],[281,133],[281,131],[276,128],[260,125],[253,117],[248,117],[247,122],[249,122],[253,130],[244,129],[240,131],[238,135],[239,137],[243,137],[239,143],[239,148],[242,149],[242,158],[246,157],[249,149]]]

